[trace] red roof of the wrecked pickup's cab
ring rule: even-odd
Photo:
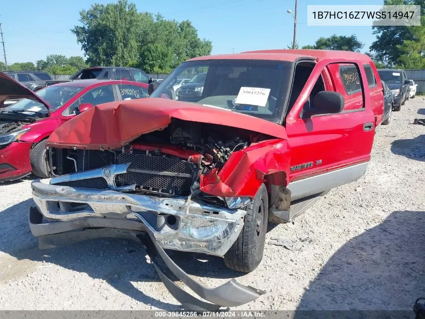
[[[276,49],[276,50],[258,50],[245,51],[237,54],[219,54],[200,56],[190,59],[189,61],[199,60],[219,60],[219,59],[257,59],[257,60],[282,60],[293,62],[300,58],[325,59],[325,58],[352,58],[361,61],[371,61],[372,59],[363,53],[337,50],[292,50],[292,49]]]

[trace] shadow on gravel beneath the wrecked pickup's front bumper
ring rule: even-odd
[[[33,200],[26,200],[0,212],[0,251],[15,257],[13,267],[0,263],[0,281],[13,280],[32,272],[38,265],[48,262],[60,267],[86,273],[92,278],[103,279],[112,287],[147,305],[166,310],[178,310],[179,306],[165,303],[144,294],[166,288],[148,284],[140,291],[132,282],[161,282],[153,265],[146,262],[141,244],[124,239],[107,238],[88,240],[66,247],[39,250],[37,239],[28,225],[28,212]],[[227,269],[221,258],[205,254],[167,251],[169,256],[187,273],[200,277],[235,278],[243,275]],[[48,268],[47,268],[48,269]],[[83,284],[83,283],[82,283]],[[178,303],[176,301],[176,303]]]

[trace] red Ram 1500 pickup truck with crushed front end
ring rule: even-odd
[[[190,102],[175,93],[179,79],[201,73]],[[364,174],[383,118],[377,70],[355,52],[197,57],[151,83],[149,94],[90,108],[53,132],[46,165],[54,177],[32,183],[30,228],[42,248],[105,236],[141,240],[168,290],[198,310],[264,292],[234,280],[204,287],[164,249],[254,270],[268,222],[290,222],[307,201]],[[209,302],[176,286],[155,252]]]

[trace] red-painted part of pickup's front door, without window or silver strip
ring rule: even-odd
[[[355,62],[360,67],[361,79],[366,79],[360,61],[341,60],[338,62]],[[293,169],[290,172],[290,181],[367,162],[370,159],[375,127],[372,124],[372,128],[368,127],[366,129],[368,131],[365,131],[364,125],[375,121],[370,107],[367,81],[362,80],[365,92],[364,108],[343,111],[338,114],[300,118],[302,107],[307,101],[312,87],[322,70],[330,63],[335,63],[335,61],[321,60],[317,63],[287,116],[286,132],[291,150],[290,166]],[[344,90],[344,88],[338,87],[337,81],[334,82],[334,86],[338,92]],[[329,88],[326,89],[329,90]],[[356,103],[356,101],[352,103]]]

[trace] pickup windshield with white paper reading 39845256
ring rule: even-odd
[[[270,60],[189,61],[177,67],[151,94],[280,122],[291,62]],[[176,90],[173,85],[191,79]]]

